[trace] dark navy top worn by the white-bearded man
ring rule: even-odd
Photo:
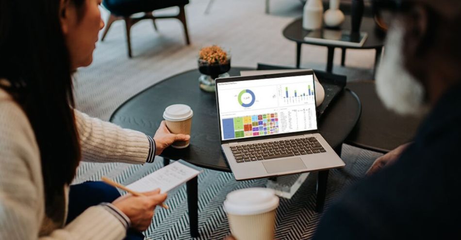
[[[461,239],[461,86],[446,92],[394,165],[322,217],[319,239]]]

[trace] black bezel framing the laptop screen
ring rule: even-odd
[[[216,107],[217,107],[217,114],[218,114],[218,126],[219,126],[219,140],[221,144],[229,143],[229,142],[246,142],[246,141],[254,141],[254,140],[261,140],[267,138],[274,138],[274,137],[284,137],[284,136],[291,136],[291,135],[300,135],[300,134],[312,134],[318,132],[318,116],[317,116],[317,98],[314,97],[315,102],[315,120],[317,122],[317,128],[313,130],[307,131],[299,131],[299,132],[292,132],[292,133],[284,133],[284,134],[272,134],[272,135],[264,135],[264,136],[250,136],[244,138],[233,138],[233,139],[226,139],[222,140],[222,131],[221,131],[221,115],[219,114],[219,96],[218,96],[218,87],[219,83],[226,83],[226,82],[237,82],[237,81],[248,81],[248,80],[261,80],[261,79],[269,79],[269,78],[281,78],[281,77],[290,77],[290,76],[303,76],[303,75],[313,75],[313,90],[314,96],[317,94],[317,90],[315,89],[315,74],[313,70],[306,70],[306,71],[298,71],[298,72],[291,72],[291,73],[280,73],[280,74],[264,74],[264,75],[254,75],[254,76],[235,76],[235,77],[225,77],[225,78],[216,78]]]

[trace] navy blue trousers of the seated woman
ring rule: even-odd
[[[102,181],[87,181],[70,186],[69,210],[66,224],[74,220],[78,215],[89,207],[103,202],[111,203],[120,196],[118,190]],[[143,240],[141,232],[129,229],[125,240]]]

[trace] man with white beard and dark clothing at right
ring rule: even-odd
[[[375,3],[395,11],[378,95],[425,120],[329,207],[314,239],[461,239],[461,0]]]

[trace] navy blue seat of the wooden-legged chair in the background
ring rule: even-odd
[[[186,5],[189,0],[103,0],[102,5],[112,14],[129,16],[136,13],[152,12],[174,6]]]

